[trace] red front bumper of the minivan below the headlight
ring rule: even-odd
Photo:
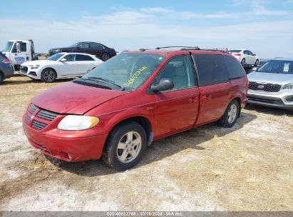
[[[38,130],[31,127],[30,123],[26,123],[24,118],[23,127],[29,142],[38,151],[47,156],[70,162],[101,158],[107,138],[107,134],[95,135],[93,129],[78,132],[61,131],[55,126],[48,125],[46,128]]]

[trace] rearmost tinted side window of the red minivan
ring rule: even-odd
[[[229,79],[239,79],[245,76],[245,71],[234,57],[221,56],[221,59],[226,65]]]

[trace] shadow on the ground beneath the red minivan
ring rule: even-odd
[[[240,118],[237,120],[237,123],[232,128],[222,128],[217,123],[210,123],[205,126],[192,128],[188,131],[154,141],[152,145],[146,149],[140,163],[132,169],[153,163],[154,161],[160,161],[163,158],[172,156],[173,154],[187,148],[192,148],[197,151],[204,151],[205,148],[200,146],[200,144],[205,141],[210,141],[212,138],[215,138],[215,136],[221,137],[225,136],[227,133],[237,131],[255,118],[257,118],[257,116],[242,112]],[[86,161],[81,163],[68,163],[65,161],[58,161],[53,158],[48,158],[48,160],[62,170],[70,173],[76,173],[79,176],[93,177],[103,176],[110,173],[119,173],[119,171],[108,168],[102,160]]]

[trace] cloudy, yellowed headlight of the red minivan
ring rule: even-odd
[[[96,126],[99,118],[93,116],[68,115],[58,124],[58,129],[64,131],[82,131]]]

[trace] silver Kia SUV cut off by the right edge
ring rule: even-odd
[[[250,104],[293,110],[293,58],[267,61],[247,78]]]

